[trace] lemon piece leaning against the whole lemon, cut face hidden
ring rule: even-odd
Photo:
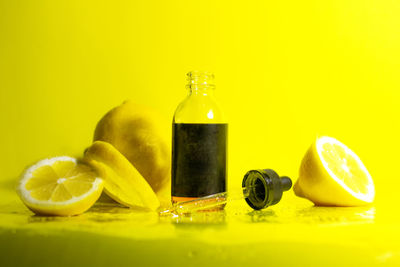
[[[113,145],[94,142],[86,149],[85,160],[104,179],[104,191],[115,201],[128,207],[152,210],[160,206],[151,186]]]

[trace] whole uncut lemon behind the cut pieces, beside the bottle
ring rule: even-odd
[[[171,180],[168,123],[155,110],[125,101],[98,122],[93,141],[112,144],[146,179],[160,198],[167,198]]]

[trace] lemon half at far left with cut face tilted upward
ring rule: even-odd
[[[17,186],[24,204],[36,214],[77,215],[100,197],[103,180],[87,165],[63,156],[29,167]]]

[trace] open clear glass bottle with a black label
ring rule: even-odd
[[[228,124],[214,98],[214,75],[187,74],[187,97],[178,105],[172,131],[172,202],[226,191]]]

